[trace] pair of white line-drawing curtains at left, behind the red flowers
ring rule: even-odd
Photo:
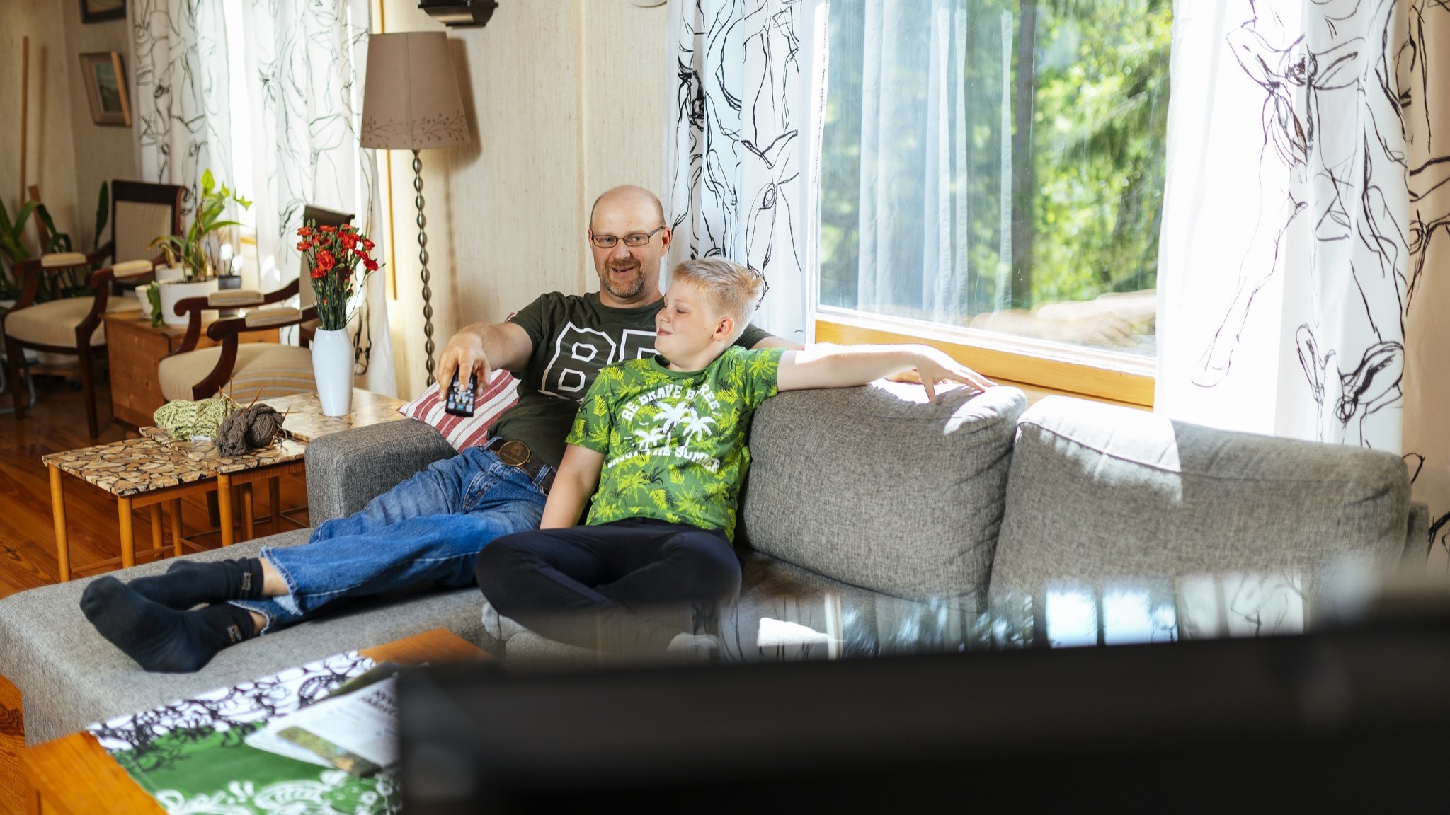
[[[138,173],[187,187],[187,215],[207,168],[249,197],[264,291],[300,273],[296,229],[307,203],[354,213],[384,244],[377,160],[357,138],[370,15],[367,0],[138,0],[130,9],[144,100]],[[242,48],[239,77],[229,48]],[[244,120],[233,90],[245,97]],[[233,161],[242,148],[251,157],[245,178]],[[310,303],[306,280],[302,289]],[[357,312],[348,323],[355,383],[396,394],[383,274],[368,280]]]

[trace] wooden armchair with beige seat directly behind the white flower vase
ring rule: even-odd
[[[161,394],[173,399],[207,399],[218,392],[232,394],[238,402],[254,397],[276,399],[318,389],[312,376],[312,351],[277,342],[242,342],[248,331],[277,329],[302,325],[316,318],[315,307],[277,306],[297,296],[297,281],[270,293],[218,291],[209,297],[188,297],[175,306],[177,315],[188,315],[181,347],[161,360],[157,368]],[[271,306],[271,307],[265,307]],[[219,319],[207,326],[206,335],[218,342],[197,348],[202,336],[202,312],[209,309],[249,309],[241,316]]]

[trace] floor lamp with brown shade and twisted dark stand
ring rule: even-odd
[[[418,260],[423,280],[423,336],[428,384],[434,384],[434,306],[428,287],[428,220],[423,218],[420,149],[470,141],[458,77],[442,32],[374,33],[367,48],[361,146],[413,151],[413,204],[418,206]]]

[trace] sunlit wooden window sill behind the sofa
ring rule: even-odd
[[[922,342],[987,378],[1030,392],[1153,408],[1157,363],[1150,358],[829,306],[816,309],[815,329],[818,342]]]

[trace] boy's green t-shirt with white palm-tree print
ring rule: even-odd
[[[587,524],[655,518],[735,539],[745,434],[776,394],[782,354],[732,345],[703,371],[671,371],[658,355],[602,370],[567,439],[605,455]]]

